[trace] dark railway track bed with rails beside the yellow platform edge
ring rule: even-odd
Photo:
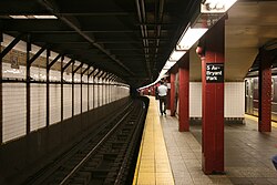
[[[113,121],[60,156],[24,184],[132,184],[144,119],[143,101],[134,101]]]

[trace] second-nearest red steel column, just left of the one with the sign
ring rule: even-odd
[[[189,131],[189,52],[182,58],[179,64],[178,88],[178,131]]]

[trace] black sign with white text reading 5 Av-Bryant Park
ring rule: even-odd
[[[223,83],[224,82],[224,64],[206,63],[206,82]]]

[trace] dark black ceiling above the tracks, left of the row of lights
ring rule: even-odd
[[[0,30],[114,73],[153,82],[201,0],[1,0]],[[54,14],[58,19],[9,16]],[[23,37],[27,41],[28,37]]]

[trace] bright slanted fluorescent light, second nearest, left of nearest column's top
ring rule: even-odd
[[[207,31],[207,28],[191,28],[183,33],[179,42],[176,45],[177,50],[189,50],[193,44],[201,39],[203,34]]]

